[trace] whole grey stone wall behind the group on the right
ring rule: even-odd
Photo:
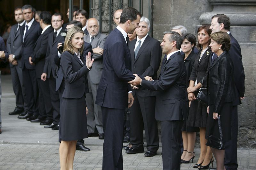
[[[256,148],[256,0],[155,0],[153,37],[183,25],[196,35],[199,25],[211,24],[211,17],[230,17],[232,35],[241,46],[245,73],[245,99],[238,106],[238,146]]]

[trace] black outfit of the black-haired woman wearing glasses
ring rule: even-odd
[[[184,59],[185,58],[185,54],[183,54],[182,57]],[[184,64],[185,64],[185,67],[186,67],[186,73],[187,73],[185,92],[186,92],[186,107],[187,107],[188,111],[189,111],[189,100],[188,100],[188,92],[187,92],[187,88],[189,87],[188,79],[189,79],[190,73],[191,73],[191,71],[192,71],[192,69],[194,67],[195,58],[196,58],[196,54],[192,50],[191,53],[188,55],[188,57],[184,60]],[[185,117],[184,124],[183,124],[183,126],[181,128],[181,131],[187,131],[187,132],[199,131],[199,128],[187,126],[187,119],[186,118],[187,117]]]

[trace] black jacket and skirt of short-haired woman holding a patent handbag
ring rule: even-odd
[[[213,112],[220,115],[223,142],[231,139],[232,105],[239,100],[234,83],[233,62],[228,52],[224,51],[214,60],[208,71],[208,104],[210,108],[205,138],[209,135],[220,137],[218,120],[213,119]]]

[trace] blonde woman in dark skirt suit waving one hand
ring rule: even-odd
[[[65,79],[59,129],[59,134],[61,134],[61,170],[73,169],[76,142],[79,139],[88,138],[85,103],[85,93],[88,89],[86,73],[92,67],[93,59],[91,61],[91,53],[89,52],[86,61],[84,61],[82,57],[83,46],[83,30],[76,26],[70,28],[64,42],[64,52],[60,59],[60,66]]]

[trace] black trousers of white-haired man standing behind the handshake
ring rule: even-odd
[[[155,118],[156,96],[140,97],[136,94],[133,97],[134,102],[130,108],[130,139],[132,147],[144,150],[144,127],[147,149],[156,152],[159,148],[158,129]]]

